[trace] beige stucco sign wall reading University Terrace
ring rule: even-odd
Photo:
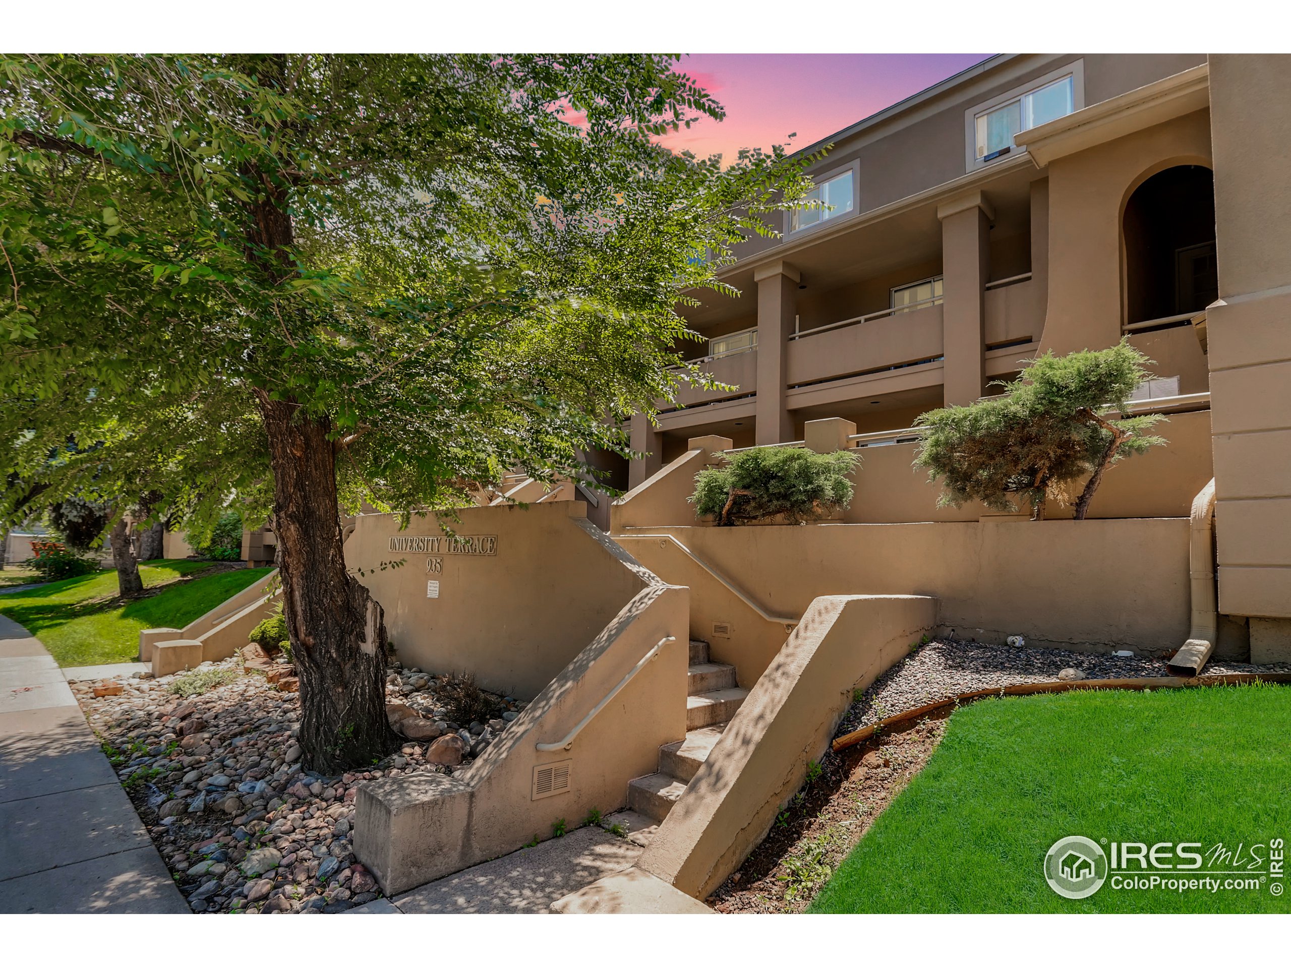
[[[586,505],[469,507],[452,530],[497,538],[493,555],[391,551],[390,538],[443,536],[434,518],[399,530],[394,515],[360,515],[346,564],[385,608],[400,661],[474,672],[487,689],[536,696],[649,581],[584,518]],[[403,559],[400,568],[382,563]],[[439,559],[443,570],[427,572]],[[427,582],[439,598],[427,598]]]

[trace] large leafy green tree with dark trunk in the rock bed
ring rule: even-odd
[[[186,499],[204,469],[259,520],[271,489],[324,772],[395,741],[338,507],[407,521],[516,467],[595,479],[580,453],[627,453],[626,414],[701,378],[667,369],[676,303],[720,288],[815,160],[655,145],[720,116],[666,57],[76,55],[0,77],[0,396],[28,401],[5,439],[106,432],[123,487],[145,469]],[[194,501],[209,528],[219,502]]]

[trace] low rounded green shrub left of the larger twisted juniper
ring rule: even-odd
[[[848,475],[860,454],[817,454],[802,447],[758,447],[705,467],[695,475],[689,501],[695,515],[719,525],[784,516],[791,521],[826,518],[847,509],[855,490]]]

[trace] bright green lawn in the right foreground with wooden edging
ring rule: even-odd
[[[811,910],[1291,911],[1286,894],[1274,896],[1286,876],[1255,891],[1127,891],[1113,888],[1113,870],[1097,893],[1072,901],[1043,874],[1050,847],[1075,834],[1104,849],[1199,842],[1205,854],[1216,843],[1250,849],[1274,838],[1291,847],[1287,736],[1291,687],[976,702],[951,716],[928,765]],[[1220,866],[1234,865],[1202,870]]]

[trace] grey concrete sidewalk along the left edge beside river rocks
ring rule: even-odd
[[[0,616],[0,914],[187,914],[62,670]]]

